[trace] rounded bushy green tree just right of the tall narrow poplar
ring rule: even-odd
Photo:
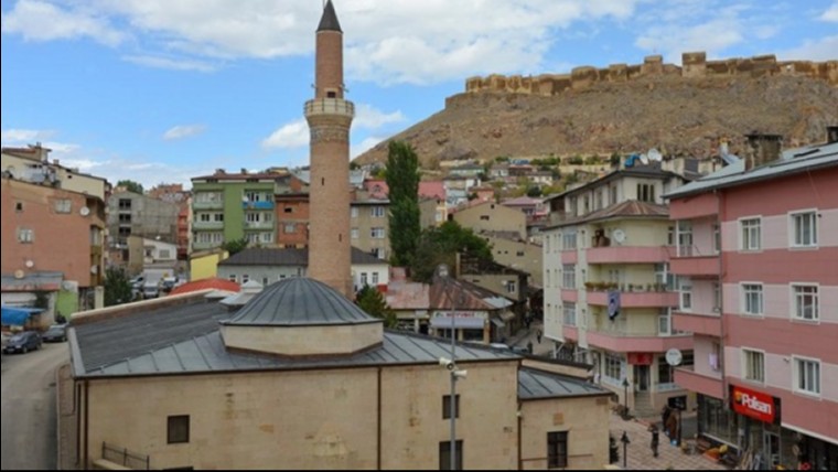
[[[456,253],[468,253],[483,260],[494,260],[492,247],[485,239],[456,222],[445,222],[439,227],[427,228],[419,238],[416,257],[410,266],[413,280],[428,282],[440,264],[454,267]]]

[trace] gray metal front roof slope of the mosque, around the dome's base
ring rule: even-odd
[[[79,326],[82,328],[82,326]],[[78,329],[75,329],[78,330]],[[71,330],[72,331],[72,330]],[[158,330],[150,331],[158,333]],[[87,334],[77,331],[82,339]],[[71,334],[71,343],[75,336]],[[144,350],[131,357],[86,342],[77,355],[83,363],[74,364],[76,377],[109,377],[140,375],[171,375],[221,373],[236,371],[287,371],[301,368],[364,367],[400,364],[436,364],[440,357],[451,356],[451,344],[440,337],[413,333],[386,331],[380,347],[346,357],[276,357],[227,351],[219,331],[203,335],[184,336],[180,342],[169,343],[153,350]],[[98,353],[97,362],[87,361]],[[110,354],[106,356],[106,354]],[[109,357],[109,358],[107,358]],[[459,362],[514,361],[520,358],[512,351],[458,344]]]

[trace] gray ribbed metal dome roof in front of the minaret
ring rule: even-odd
[[[226,325],[304,326],[379,323],[327,285],[290,278],[268,286]]]

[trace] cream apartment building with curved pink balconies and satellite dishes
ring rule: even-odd
[[[691,336],[670,325],[678,296],[662,199],[683,181],[660,162],[614,170],[552,199],[563,211],[542,233],[545,337],[555,355],[593,363],[599,383],[644,415],[686,394],[665,353],[692,356]]]

